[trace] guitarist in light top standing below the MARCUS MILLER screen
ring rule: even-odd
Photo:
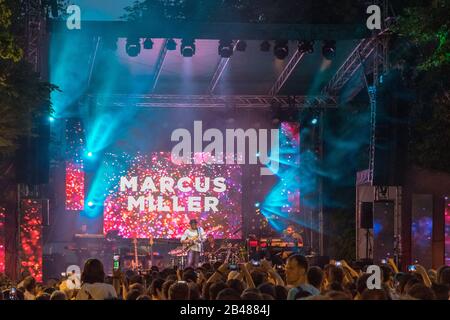
[[[181,243],[187,251],[187,266],[197,268],[200,262],[202,242],[205,239],[205,231],[198,226],[197,220],[189,221],[190,228],[181,236]]]

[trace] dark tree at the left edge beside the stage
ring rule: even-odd
[[[17,148],[20,136],[31,135],[37,117],[51,112],[50,93],[57,88],[41,81],[23,59],[21,1],[0,0],[0,154]]]

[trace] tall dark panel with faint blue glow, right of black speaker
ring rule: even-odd
[[[394,256],[395,201],[378,200],[373,204],[373,260]]]

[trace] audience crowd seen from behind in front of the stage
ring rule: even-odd
[[[300,255],[282,266],[267,260],[201,267],[153,267],[144,274],[132,270],[106,276],[103,264],[89,259],[81,279],[72,274],[38,283],[23,274],[16,284],[0,274],[0,300],[449,300],[450,266],[399,272],[392,259],[380,265],[381,289],[368,289],[364,267],[331,261],[323,268],[310,266]],[[234,269],[234,268],[232,268]]]

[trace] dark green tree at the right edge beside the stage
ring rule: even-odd
[[[449,7],[406,8],[394,28],[393,62],[416,92],[410,117],[413,164],[450,172]]]

